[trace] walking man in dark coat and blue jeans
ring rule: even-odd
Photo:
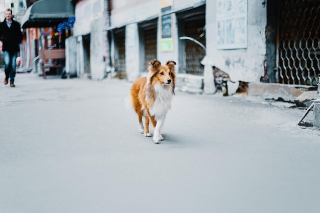
[[[5,59],[5,84],[14,87],[16,58],[20,51],[19,44],[22,42],[22,32],[19,22],[13,20],[12,10],[5,11],[5,20],[0,23],[0,40],[2,41],[2,51]]]

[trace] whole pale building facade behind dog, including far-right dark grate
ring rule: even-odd
[[[70,1],[70,76],[132,82],[156,58],[174,60],[178,76],[201,80],[205,57],[234,91],[239,82],[316,85],[320,1]]]

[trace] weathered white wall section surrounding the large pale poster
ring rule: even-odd
[[[214,65],[229,74],[233,81],[260,81],[266,54],[266,8],[260,1],[248,0],[247,48],[239,50],[217,50],[216,1],[207,1],[206,10],[207,55]]]

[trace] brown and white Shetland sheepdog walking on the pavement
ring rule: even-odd
[[[131,87],[132,105],[138,114],[139,130],[146,137],[150,137],[149,122],[154,127],[153,141],[163,140],[161,127],[170,109],[174,96],[175,65],[174,61],[167,61],[161,65],[158,60],[149,62],[147,76],[135,80]],[[145,117],[145,128],[142,117]]]

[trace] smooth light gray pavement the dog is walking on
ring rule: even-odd
[[[155,145],[127,81],[15,84],[0,84],[0,212],[320,209],[320,132],[296,126],[301,109],[177,91]]]

